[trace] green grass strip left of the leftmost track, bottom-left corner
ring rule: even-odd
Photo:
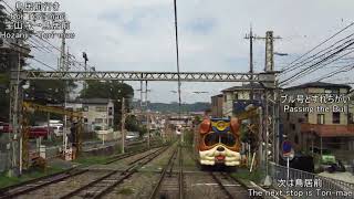
[[[29,181],[43,176],[52,175],[63,171],[64,169],[59,167],[48,167],[44,171],[42,169],[29,169],[25,170],[21,177],[8,177],[6,172],[0,174],[0,188],[13,186],[24,181]]]

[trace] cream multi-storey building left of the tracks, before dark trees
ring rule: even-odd
[[[66,108],[82,111],[87,130],[113,128],[114,103],[108,98],[79,98],[66,103]]]

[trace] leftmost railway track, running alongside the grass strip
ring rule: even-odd
[[[159,148],[159,147],[152,147],[152,149],[155,148]],[[122,154],[122,155],[117,155],[117,156],[113,156],[111,159],[108,159],[104,165],[108,165],[125,158],[129,158],[133,156],[136,156],[140,153],[146,151],[146,149],[142,149],[142,150],[137,150],[134,153],[127,153],[127,154]],[[154,151],[156,153],[156,151]],[[150,154],[154,154],[150,153]],[[136,161],[140,160],[143,158],[138,158]],[[132,164],[134,164],[135,161],[133,161]],[[23,196],[27,195],[31,191],[35,191],[35,190],[40,190],[42,188],[45,188],[48,186],[67,180],[70,178],[80,176],[80,175],[87,175],[91,170],[86,169],[86,168],[71,168],[67,170],[64,170],[62,172],[56,172],[50,176],[44,176],[38,179],[33,179],[23,184],[19,184],[15,186],[10,186],[3,189],[0,189],[0,199],[8,199],[8,198],[14,198],[18,196]]]

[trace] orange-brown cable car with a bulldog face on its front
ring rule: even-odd
[[[199,160],[201,165],[238,166],[240,156],[240,124],[237,118],[205,119],[199,126]]]

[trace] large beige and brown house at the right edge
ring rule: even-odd
[[[298,150],[311,146],[343,151],[354,149],[351,86],[312,82],[284,88],[281,123]],[[341,153],[339,153],[341,154]]]

